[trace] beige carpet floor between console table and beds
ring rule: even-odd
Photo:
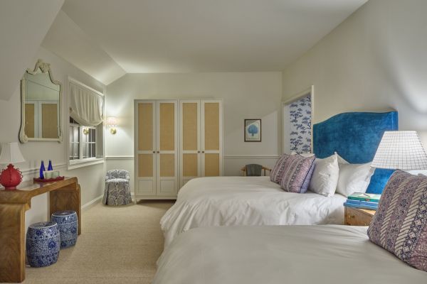
[[[46,268],[26,268],[23,283],[151,283],[163,251],[159,220],[173,202],[97,204],[82,214],[75,247]]]

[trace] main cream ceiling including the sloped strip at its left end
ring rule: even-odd
[[[97,60],[125,72],[280,71],[366,1],[66,0],[63,11],[87,36],[64,45],[48,35],[46,48],[94,77],[99,48]],[[61,24],[51,31],[67,34]]]

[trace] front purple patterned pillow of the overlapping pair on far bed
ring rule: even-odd
[[[290,155],[283,166],[283,178],[280,187],[288,192],[304,193],[307,191],[314,170],[315,156],[302,157]]]

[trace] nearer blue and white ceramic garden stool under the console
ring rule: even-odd
[[[40,222],[28,226],[26,256],[30,266],[50,266],[58,261],[60,235],[56,222]]]

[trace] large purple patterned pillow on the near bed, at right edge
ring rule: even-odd
[[[381,195],[369,239],[427,271],[427,177],[396,170]]]

